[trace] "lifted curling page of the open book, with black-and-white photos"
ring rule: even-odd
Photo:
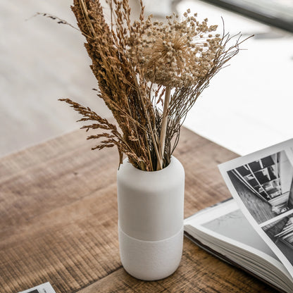
[[[219,169],[244,216],[293,277],[293,139]]]

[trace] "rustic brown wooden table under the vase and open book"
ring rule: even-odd
[[[5,139],[5,138],[4,138]],[[237,155],[183,129],[185,217],[230,197],[217,165]],[[180,267],[143,282],[120,263],[116,149],[90,151],[81,130],[0,160],[0,292],[275,292],[184,240]]]

